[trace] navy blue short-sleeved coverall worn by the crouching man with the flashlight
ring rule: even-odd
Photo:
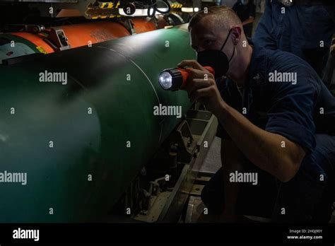
[[[290,81],[274,81],[269,79],[271,73],[293,74]],[[229,79],[222,86],[223,100],[246,112],[250,122],[307,151],[298,173],[288,182],[279,182],[245,160],[244,172],[257,172],[258,185],[241,183],[237,213],[283,222],[329,221],[334,201],[335,98],[315,70],[291,53],[264,49],[254,42],[245,88],[239,91]],[[230,139],[221,125],[217,136]],[[208,210],[223,211],[222,168],[204,187],[201,198]]]

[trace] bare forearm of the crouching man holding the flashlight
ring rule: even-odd
[[[292,149],[297,147],[288,139],[260,129],[225,102],[217,117],[237,148],[254,165],[284,182],[298,171],[303,156],[295,156]],[[282,141],[286,148],[282,148]]]

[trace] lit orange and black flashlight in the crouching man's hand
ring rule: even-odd
[[[204,66],[211,74],[214,75],[214,69],[211,66]],[[175,69],[164,69],[158,78],[160,86],[164,90],[179,90],[181,87],[186,86],[187,78],[189,77],[189,71],[192,68],[181,69],[179,67]]]

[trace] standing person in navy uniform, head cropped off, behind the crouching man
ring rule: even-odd
[[[253,41],[297,55],[322,78],[334,28],[334,0],[266,0]]]

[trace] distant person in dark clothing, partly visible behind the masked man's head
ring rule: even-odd
[[[243,30],[247,37],[252,37],[252,23],[254,23],[255,8],[252,0],[237,0],[233,6],[233,11],[240,17]]]

